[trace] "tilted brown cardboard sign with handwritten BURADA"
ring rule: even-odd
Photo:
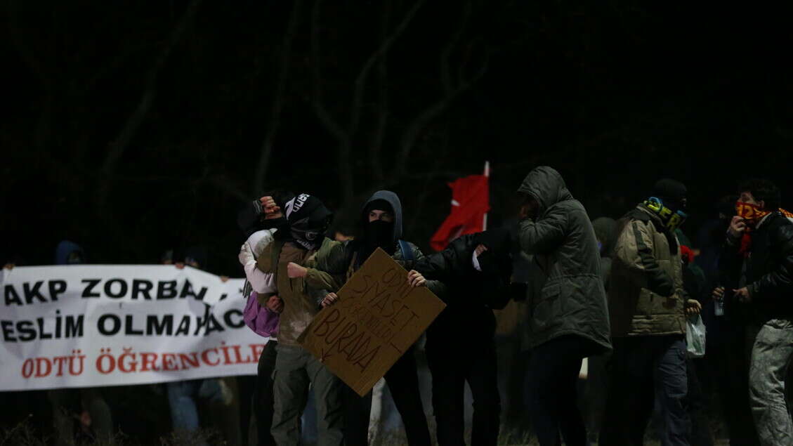
[[[301,344],[361,396],[408,351],[446,307],[380,248],[314,317]]]

